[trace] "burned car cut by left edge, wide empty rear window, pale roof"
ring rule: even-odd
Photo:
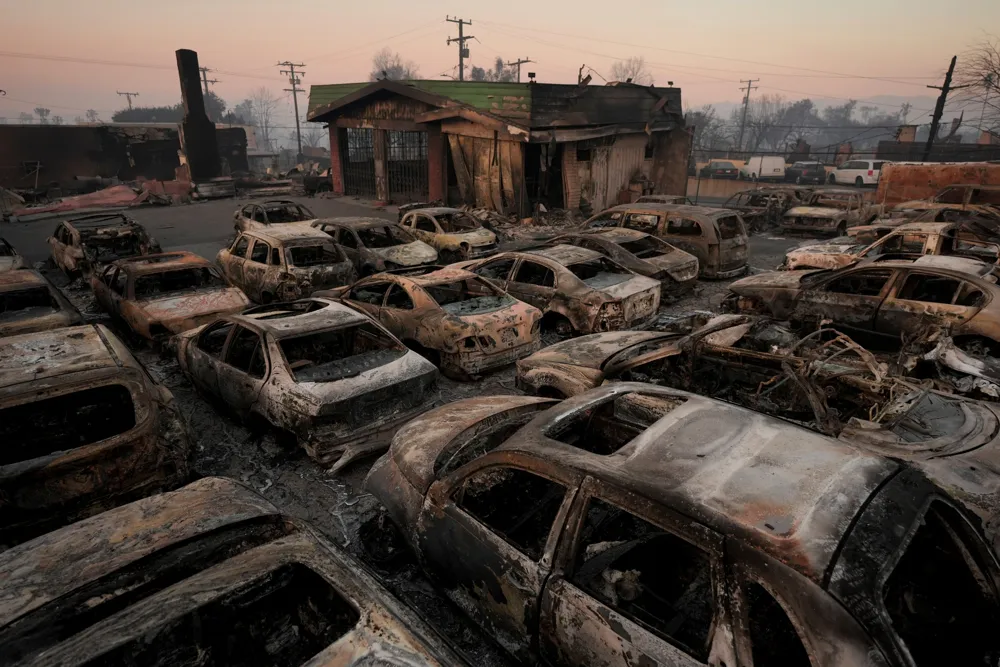
[[[0,338],[0,545],[185,483],[190,449],[173,396],[103,326]]]

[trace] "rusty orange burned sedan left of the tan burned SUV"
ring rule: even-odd
[[[120,259],[93,274],[90,287],[104,310],[157,342],[250,305],[215,265],[184,251]]]

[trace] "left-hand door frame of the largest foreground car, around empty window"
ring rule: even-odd
[[[491,468],[515,468],[566,488],[566,495],[552,522],[545,548],[537,562],[465,511],[453,498],[466,480]],[[470,573],[467,581],[474,587],[472,593],[466,592],[465,600],[472,598],[473,603],[469,608],[476,616],[476,621],[483,627],[489,628],[493,632],[492,636],[500,639],[505,648],[519,657],[537,654],[538,609],[542,592],[552,569],[566,519],[583,479],[582,473],[565,466],[552,465],[522,452],[490,452],[466,463],[443,479],[432,482],[424,497],[416,527],[417,539],[420,542],[418,558],[421,565],[428,572],[437,571],[436,576],[446,585],[454,583],[453,589],[462,588],[457,580],[451,579],[459,572],[455,561],[446,557],[449,550],[457,549],[462,556],[462,565]],[[435,521],[450,521],[454,530],[449,531],[447,526],[435,524]],[[436,536],[442,533],[446,536],[450,534],[451,537],[438,539]],[[462,547],[460,542],[463,541],[463,537],[466,546],[478,543],[481,548],[479,556],[482,558],[475,554],[475,549]],[[433,566],[433,558],[428,557],[428,548],[432,552],[435,548],[441,549],[440,568]],[[471,574],[476,571],[477,574]],[[492,582],[489,581],[491,577]],[[524,581],[532,577],[533,580]],[[477,585],[477,582],[485,585]],[[519,584],[522,585],[521,588],[518,587]],[[494,598],[495,604],[491,605],[491,610],[499,615],[501,622],[507,623],[507,627],[497,627],[494,619],[480,613],[480,605],[475,603],[476,593],[485,593],[489,596],[493,592],[502,599]],[[523,605],[520,607],[514,604],[515,600],[512,599],[518,594],[522,595]],[[461,597],[454,590],[452,595]],[[520,616],[520,622],[514,618],[515,615]]]

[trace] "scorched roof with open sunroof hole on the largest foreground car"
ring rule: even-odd
[[[545,436],[567,413],[639,392],[680,404],[615,454]],[[854,517],[898,464],[745,408],[640,383],[612,383],[537,416],[495,452],[569,467],[735,535],[817,583]]]

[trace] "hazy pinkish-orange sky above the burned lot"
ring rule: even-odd
[[[366,79],[383,46],[416,62],[422,78],[440,78],[456,71],[457,47],[445,40],[457,30],[444,22],[455,12],[473,21],[473,64],[530,57],[539,80],[568,83],[582,63],[607,76],[616,59],[643,55],[658,84],[682,88],[685,106],[739,100],[739,80],[750,77],[761,79],[755,94],[817,103],[933,95],[924,86],[940,82],[952,55],[1000,33],[1000,0],[0,0],[0,117],[41,105],[67,122],[88,108],[107,119],[125,106],[116,91],[139,92],[137,104],[175,103],[178,48],[220,70],[213,89],[230,106],[257,86],[285,95],[279,60],[306,63],[308,89]]]

